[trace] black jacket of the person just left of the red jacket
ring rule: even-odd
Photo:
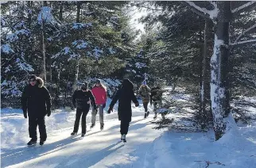
[[[77,109],[89,110],[90,103],[88,101],[91,101],[91,105],[95,107],[95,97],[91,93],[91,90],[87,90],[86,92],[76,90],[72,95],[72,103]]]

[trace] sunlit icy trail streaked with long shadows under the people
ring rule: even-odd
[[[136,113],[136,112],[134,112]],[[141,113],[143,114],[143,113]],[[133,116],[127,143],[120,139],[117,118],[105,120],[105,128],[99,131],[99,123],[81,139],[71,137],[72,127],[49,132],[44,146],[18,147],[5,150],[1,155],[2,167],[143,167],[145,154],[153,140],[163,130],[153,128],[153,114]],[[88,128],[89,124],[87,124]],[[79,130],[80,131],[80,130]],[[27,135],[28,136],[28,135]]]

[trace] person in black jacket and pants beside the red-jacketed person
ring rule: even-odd
[[[88,84],[85,82],[83,83],[81,90],[76,90],[72,95],[72,103],[74,107],[76,107],[76,120],[74,130],[71,133],[72,136],[75,136],[78,132],[81,116],[82,137],[86,134],[86,116],[90,109],[90,103],[94,106],[94,109],[96,109],[95,97],[91,93],[91,90],[88,90],[87,88]]]

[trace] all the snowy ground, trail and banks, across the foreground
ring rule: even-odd
[[[150,111],[151,108],[149,105]],[[20,109],[2,109],[1,167],[254,168],[256,165],[256,123],[241,124],[215,142],[213,132],[154,130],[155,125],[150,123],[152,113],[144,119],[142,106],[133,107],[133,112],[125,145],[118,143],[116,111],[105,115],[102,132],[97,123],[81,139],[80,135],[70,136],[75,112],[59,110],[46,117],[48,139],[45,145],[26,147],[28,120],[23,118]],[[176,119],[175,114],[170,116]],[[88,128],[90,113],[87,122]]]

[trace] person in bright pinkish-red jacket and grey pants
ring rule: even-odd
[[[96,109],[92,107],[91,111],[91,128],[95,126],[96,114],[99,109],[99,123],[100,129],[104,128],[104,120],[103,120],[103,109],[106,107],[107,101],[107,87],[103,85],[100,79],[96,80],[95,86],[91,90],[92,94],[95,97]]]

